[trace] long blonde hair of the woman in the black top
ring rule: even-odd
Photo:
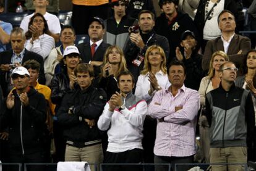
[[[120,63],[119,63],[119,67],[116,73],[114,73],[114,77],[117,77],[117,75],[119,75],[119,73],[121,73],[124,70],[127,70],[127,66],[126,66],[126,58],[124,57],[124,52],[122,51],[122,49],[120,49],[118,46],[116,45],[112,45],[109,46],[108,49],[106,49],[106,52],[104,54],[103,57],[103,66],[108,63],[108,56],[110,54],[110,52],[112,51],[112,49],[116,48],[116,50],[119,52],[120,54]],[[103,70],[101,69],[101,73],[103,73]],[[102,74],[101,74],[102,75]]]

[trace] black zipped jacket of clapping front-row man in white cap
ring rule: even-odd
[[[25,154],[27,152],[43,150],[42,145],[45,139],[44,132],[46,128],[45,97],[33,87],[30,87],[30,90],[27,92],[29,105],[23,107],[16,90],[12,92],[15,96],[14,107],[7,109],[6,99],[4,99],[0,124],[2,129],[8,128],[9,130],[9,147],[17,152],[22,152],[23,148]],[[22,127],[22,131],[20,131],[20,127]]]

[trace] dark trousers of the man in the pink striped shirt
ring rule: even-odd
[[[175,164],[187,164],[192,163],[194,156],[188,157],[166,157],[166,156],[155,156],[155,164],[171,164],[172,171],[184,171],[189,170],[192,165],[177,165]],[[155,165],[155,171],[168,171],[168,165]]]

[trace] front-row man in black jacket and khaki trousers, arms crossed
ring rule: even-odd
[[[79,88],[64,96],[56,115],[57,121],[64,127],[67,140],[65,161],[100,164],[103,151],[100,130],[95,122],[106,104],[106,93],[93,87],[92,65],[79,64],[74,72]],[[94,170],[93,165],[91,170]]]

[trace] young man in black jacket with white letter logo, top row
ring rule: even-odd
[[[190,30],[197,35],[197,28],[187,14],[177,12],[178,0],[160,0],[159,6],[163,13],[156,18],[155,31],[166,36],[169,41],[170,55],[168,64],[176,56],[175,49],[184,31]]]

